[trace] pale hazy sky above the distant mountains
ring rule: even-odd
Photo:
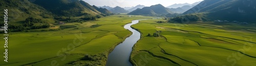
[[[110,7],[132,7],[137,5],[151,6],[156,4],[161,4],[164,7],[173,5],[173,4],[193,4],[195,2],[203,0],[83,0],[84,2],[89,3],[90,5],[95,6],[110,6]]]

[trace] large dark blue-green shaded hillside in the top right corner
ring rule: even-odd
[[[255,23],[256,2],[244,0],[205,0],[183,14],[205,13],[211,21],[228,20]],[[197,7],[201,7],[198,9]]]

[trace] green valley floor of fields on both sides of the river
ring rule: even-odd
[[[152,18],[112,15],[67,23],[76,27],[56,31],[11,32],[9,62],[0,65],[105,65],[108,54],[132,34],[123,25],[138,19],[148,20],[132,25],[142,35],[130,58],[134,65],[256,64],[254,25],[157,23],[164,20]]]

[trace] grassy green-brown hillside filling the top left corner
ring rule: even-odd
[[[30,3],[28,0],[0,1],[0,9],[8,9],[10,23],[22,23],[28,17],[53,18],[51,13],[40,6]],[[1,13],[3,15],[3,13]],[[1,20],[3,16],[0,16]],[[47,19],[45,19],[47,21]]]

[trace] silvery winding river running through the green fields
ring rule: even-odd
[[[124,25],[124,28],[129,29],[133,34],[117,45],[109,54],[106,66],[132,66],[129,59],[134,44],[140,39],[140,32],[131,28],[131,25],[137,23],[139,23],[139,20],[133,20],[132,23]]]

